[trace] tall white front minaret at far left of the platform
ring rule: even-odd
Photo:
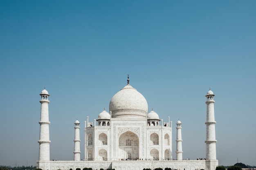
[[[49,110],[48,104],[50,101],[49,93],[43,89],[40,94],[41,99],[41,115],[40,115],[40,137],[39,137],[39,161],[49,161],[50,160],[50,143],[49,140]]]

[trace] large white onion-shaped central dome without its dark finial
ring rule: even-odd
[[[129,83],[117,92],[109,103],[113,118],[146,118],[148,103]]]

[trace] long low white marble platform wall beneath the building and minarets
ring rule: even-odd
[[[216,164],[217,163],[217,164]],[[218,161],[209,162],[213,168],[218,166]],[[143,168],[172,168],[177,170],[206,170],[205,160],[185,160],[185,161],[38,161],[37,168],[42,170],[76,170],[76,168],[100,168],[115,170],[143,170]],[[215,170],[214,169],[211,170]]]

